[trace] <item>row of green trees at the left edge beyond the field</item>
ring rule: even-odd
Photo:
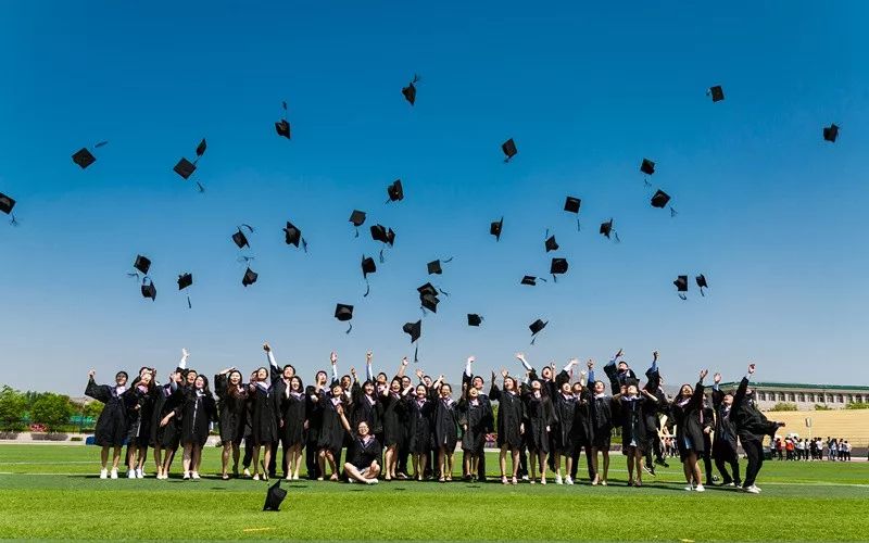
[[[0,431],[83,430],[93,427],[100,412],[100,402],[77,403],[53,392],[21,392],[5,384],[0,388]]]

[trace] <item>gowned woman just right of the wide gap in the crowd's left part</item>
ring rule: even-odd
[[[232,476],[238,477],[238,460],[241,455],[241,440],[244,439],[244,418],[248,416],[248,387],[241,371],[226,368],[214,376],[214,391],[217,393],[217,412],[221,422],[221,477],[229,479],[229,458],[232,458]]]

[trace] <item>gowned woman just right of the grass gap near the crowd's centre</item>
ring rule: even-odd
[[[519,471],[519,449],[522,446],[522,433],[525,433],[525,404],[519,395],[519,389],[515,378],[511,377],[506,369],[501,370],[504,378],[504,390],[500,390],[495,384],[495,374],[492,371],[492,388],[489,391],[489,399],[498,402],[498,446],[501,449],[501,482],[503,484],[518,481],[516,476]],[[513,457],[513,477],[507,480],[507,451]]]

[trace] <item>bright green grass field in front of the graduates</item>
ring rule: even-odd
[[[217,449],[206,450],[207,477],[200,481],[100,480],[98,457],[92,446],[0,445],[0,538],[869,539],[869,463],[768,462],[758,479],[760,495],[723,488],[700,494],[682,490],[677,462],[644,478],[645,487],[629,488],[625,462],[614,454],[606,488],[588,481],[364,487],[304,480],[284,483],[289,495],[281,510],[263,513],[266,483],[218,479]],[[494,475],[495,455],[490,453],[488,464]]]

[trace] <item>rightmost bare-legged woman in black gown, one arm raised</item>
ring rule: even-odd
[[[694,389],[690,384],[682,384],[679,394],[672,401],[672,414],[676,419],[676,441],[679,447],[679,457],[685,473],[685,490],[703,492],[706,489],[701,481],[697,458],[704,451],[704,428],[711,421],[703,417],[703,379],[709,370],[700,372],[700,380]]]

